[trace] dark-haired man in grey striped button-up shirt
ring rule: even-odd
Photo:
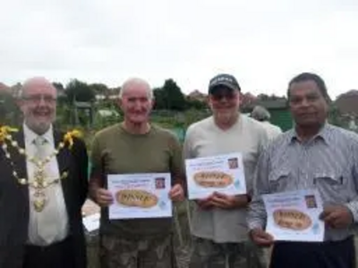
[[[248,225],[261,247],[274,244],[271,267],[354,268],[354,227],[358,222],[358,136],[327,121],[324,81],[302,73],[289,83],[295,127],[266,148],[257,166]],[[262,194],[316,188],[323,200],[323,242],[275,241],[265,231]]]

